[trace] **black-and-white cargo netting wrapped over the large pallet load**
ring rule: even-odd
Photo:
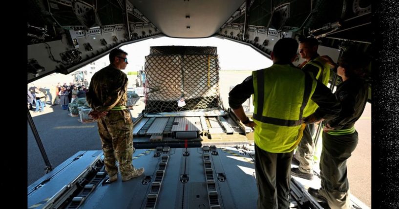
[[[216,47],[150,47],[145,72],[146,113],[223,107]]]

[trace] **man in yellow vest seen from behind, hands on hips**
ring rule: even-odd
[[[341,110],[330,89],[293,66],[298,42],[282,38],[273,47],[273,65],[253,71],[229,93],[229,105],[248,127],[254,127],[258,209],[290,207],[290,169],[294,149],[306,123],[333,118]],[[253,121],[242,103],[253,95]],[[303,110],[309,99],[319,108],[312,117]]]

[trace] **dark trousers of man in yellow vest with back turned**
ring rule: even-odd
[[[258,209],[289,209],[291,160],[294,151],[271,153],[255,145]]]

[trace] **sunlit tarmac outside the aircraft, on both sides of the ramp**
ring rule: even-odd
[[[220,71],[220,95],[227,109],[228,94],[231,85],[241,83],[249,71]],[[55,81],[54,83],[56,83]],[[40,81],[35,81],[40,84]],[[48,84],[47,84],[48,85]],[[144,98],[134,106],[133,117],[137,117],[144,109]],[[101,141],[98,135],[97,123],[81,123],[79,117],[69,116],[60,105],[44,108],[44,112],[30,111],[43,147],[52,167],[55,168],[64,160],[82,150],[101,150]],[[359,142],[355,152],[347,162],[350,191],[360,201],[371,207],[371,104],[366,108],[357,121],[356,130]],[[28,163],[27,186],[44,175],[44,161],[33,133],[28,123]],[[134,142],[134,139],[133,139]]]

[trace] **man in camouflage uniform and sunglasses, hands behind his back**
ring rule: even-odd
[[[113,49],[109,54],[110,64],[93,75],[86,93],[87,103],[93,109],[89,116],[97,119],[110,182],[118,180],[116,160],[122,181],[144,173],[144,168],[135,169],[132,165],[133,122],[126,109],[127,76],[121,71],[128,64],[126,56],[125,51]]]

